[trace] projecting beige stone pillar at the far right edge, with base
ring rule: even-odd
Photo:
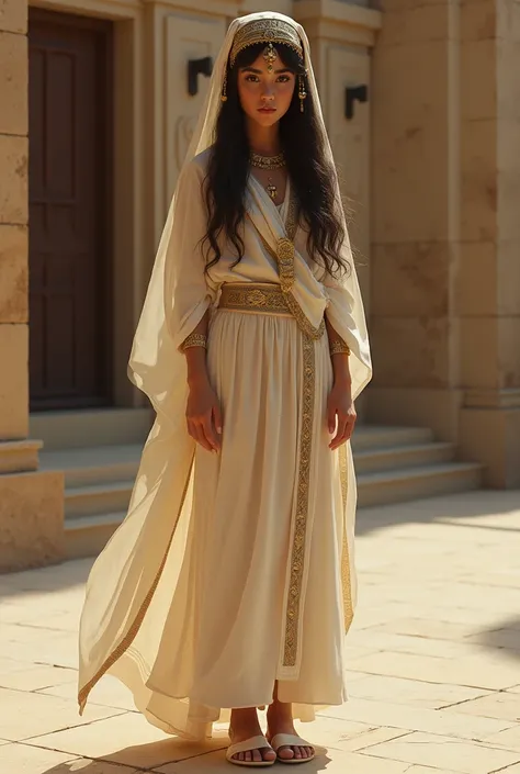
[[[463,453],[520,485],[520,4],[462,7]]]

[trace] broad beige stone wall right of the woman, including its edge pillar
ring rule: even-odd
[[[382,5],[370,417],[432,427],[518,485],[520,8]]]

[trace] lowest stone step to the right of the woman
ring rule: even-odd
[[[482,465],[476,462],[405,468],[358,475],[358,504],[387,505],[478,489]]]

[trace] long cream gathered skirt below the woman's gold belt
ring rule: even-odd
[[[127,664],[120,674],[167,731],[208,736],[226,708],[270,704],[276,680],[302,719],[346,698],[343,503],[326,423],[332,371],[327,336],[307,343],[308,361],[303,339],[289,315],[219,309],[212,318],[222,451],[196,449],[184,558],[146,689]],[[305,368],[314,371],[307,406]],[[304,550],[295,528],[302,487]]]

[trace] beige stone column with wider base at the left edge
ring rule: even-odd
[[[29,433],[27,5],[0,3],[0,572],[63,554],[64,483]]]

